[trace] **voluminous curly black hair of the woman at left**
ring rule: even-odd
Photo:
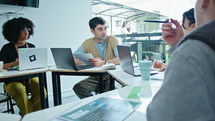
[[[2,34],[9,42],[17,42],[20,32],[28,28],[28,38],[34,34],[34,24],[27,18],[13,18],[5,22],[2,26]]]

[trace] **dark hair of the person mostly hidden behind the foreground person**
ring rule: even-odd
[[[194,8],[191,8],[190,10],[184,12],[184,14],[183,14],[182,26],[184,29],[186,29],[184,26],[185,18],[187,18],[189,20],[189,26],[196,23],[195,16],[194,16]]]

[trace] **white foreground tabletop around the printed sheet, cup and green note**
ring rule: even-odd
[[[156,78],[151,78],[150,81],[142,81],[140,77],[133,77],[132,75],[122,71],[120,66],[117,66],[116,70],[108,70],[108,73],[111,76],[114,76],[118,81],[125,83],[126,86],[120,89],[112,90],[109,92],[105,92],[102,94],[98,94],[96,96],[88,97],[82,100],[74,101],[71,103],[67,103],[64,105],[55,106],[49,109],[33,112],[24,116],[23,121],[50,121],[54,119],[56,116],[64,113],[65,111],[75,110],[78,107],[81,107],[93,100],[96,100],[100,97],[108,97],[113,99],[122,99],[129,101],[141,102],[141,106],[137,108],[130,116],[128,116],[125,121],[146,121],[146,108],[148,104],[151,102],[153,96],[157,93],[162,85],[162,78],[164,73],[159,73]],[[155,76],[155,75],[154,75]],[[141,87],[140,92],[137,94],[138,98],[128,98],[130,92],[135,87]]]

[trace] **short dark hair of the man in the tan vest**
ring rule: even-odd
[[[94,18],[90,19],[89,26],[91,29],[94,30],[98,24],[104,25],[105,23],[106,23],[106,21],[103,18],[94,17]]]

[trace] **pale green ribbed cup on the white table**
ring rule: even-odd
[[[139,61],[139,67],[140,67],[141,79],[143,81],[149,81],[152,61],[149,61],[149,60]]]

